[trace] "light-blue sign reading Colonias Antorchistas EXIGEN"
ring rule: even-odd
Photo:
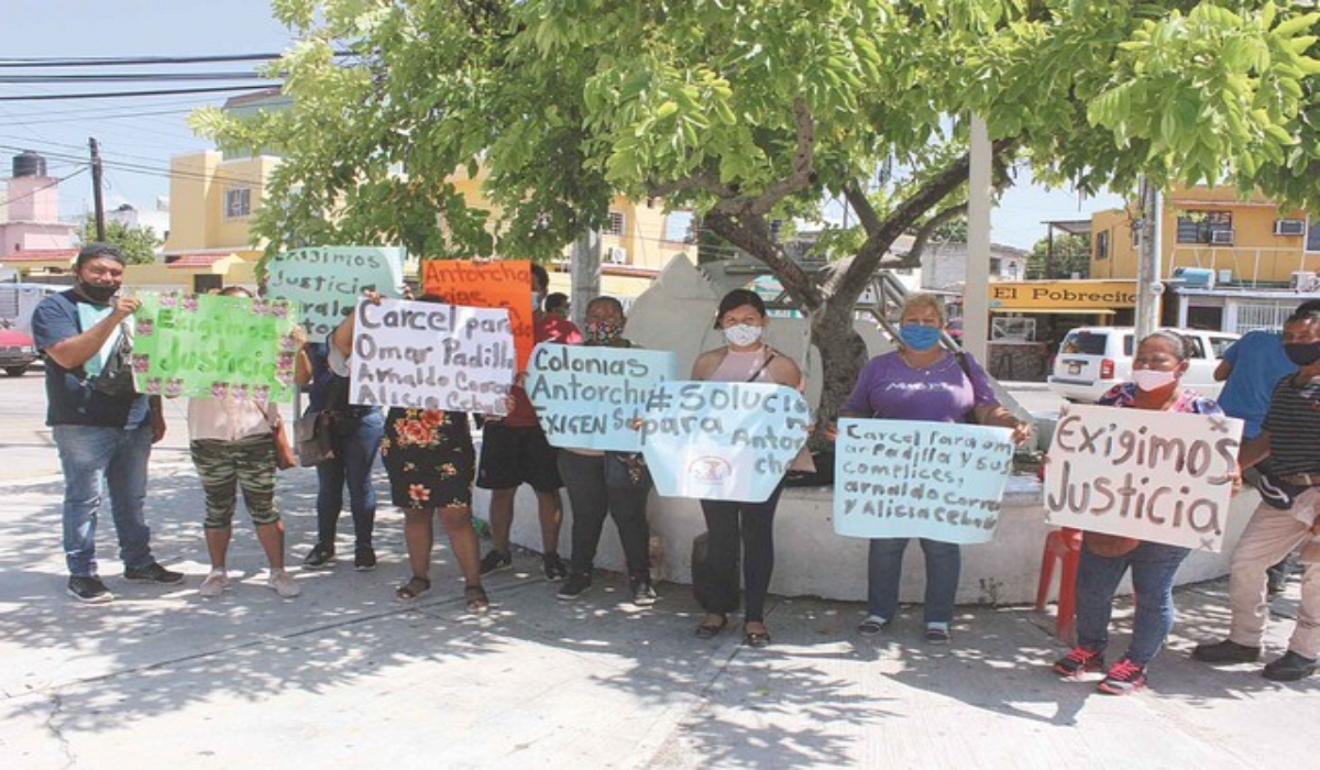
[[[543,342],[527,368],[527,395],[553,446],[640,452],[632,427],[651,388],[675,378],[677,354]]]

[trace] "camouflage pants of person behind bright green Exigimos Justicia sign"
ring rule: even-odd
[[[280,520],[275,507],[275,440],[269,433],[246,436],[238,441],[205,438],[193,441],[193,465],[206,491],[207,530],[227,530],[238,502],[235,487],[243,490],[243,503],[256,524]]]

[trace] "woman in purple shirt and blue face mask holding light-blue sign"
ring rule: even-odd
[[[931,423],[975,421],[1012,428],[1022,442],[1030,427],[995,400],[990,378],[970,355],[940,346],[944,305],[915,295],[899,314],[899,349],[867,362],[840,416]],[[909,538],[874,538],[867,560],[867,618],[862,635],[879,634],[898,615],[903,552]],[[925,553],[925,641],[949,642],[962,553],[957,544],[921,538]]]

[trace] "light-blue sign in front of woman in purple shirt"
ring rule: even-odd
[[[986,543],[1011,470],[1007,428],[845,417],[834,446],[834,532]]]

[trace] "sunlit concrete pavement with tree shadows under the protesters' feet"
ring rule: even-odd
[[[1179,592],[1151,688],[1113,697],[1049,672],[1064,651],[1052,615],[1024,608],[960,608],[953,645],[931,647],[920,608],[873,643],[854,633],[859,605],[776,598],[775,643],[751,650],[737,622],[693,638],[686,586],[663,584],[640,610],[606,576],[558,602],[531,555],[490,580],[490,613],[467,614],[442,543],[436,588],[400,605],[401,518],[389,508],[376,572],[298,573],[293,601],[264,586],[240,512],[230,567],[242,580],[203,600],[201,494],[191,466],[169,458],[153,468],[148,510],[157,555],[187,582],[124,582],[107,515],[102,573],[119,598],[83,606],[63,593],[61,493],[57,477],[0,482],[7,767],[1200,769],[1316,755],[1320,678],[1280,685],[1258,666],[1188,660],[1225,629],[1222,581]],[[292,564],[313,539],[314,493],[310,470],[281,474]],[[350,528],[346,514],[341,544]],[[1271,655],[1296,598],[1294,585],[1275,601]]]

